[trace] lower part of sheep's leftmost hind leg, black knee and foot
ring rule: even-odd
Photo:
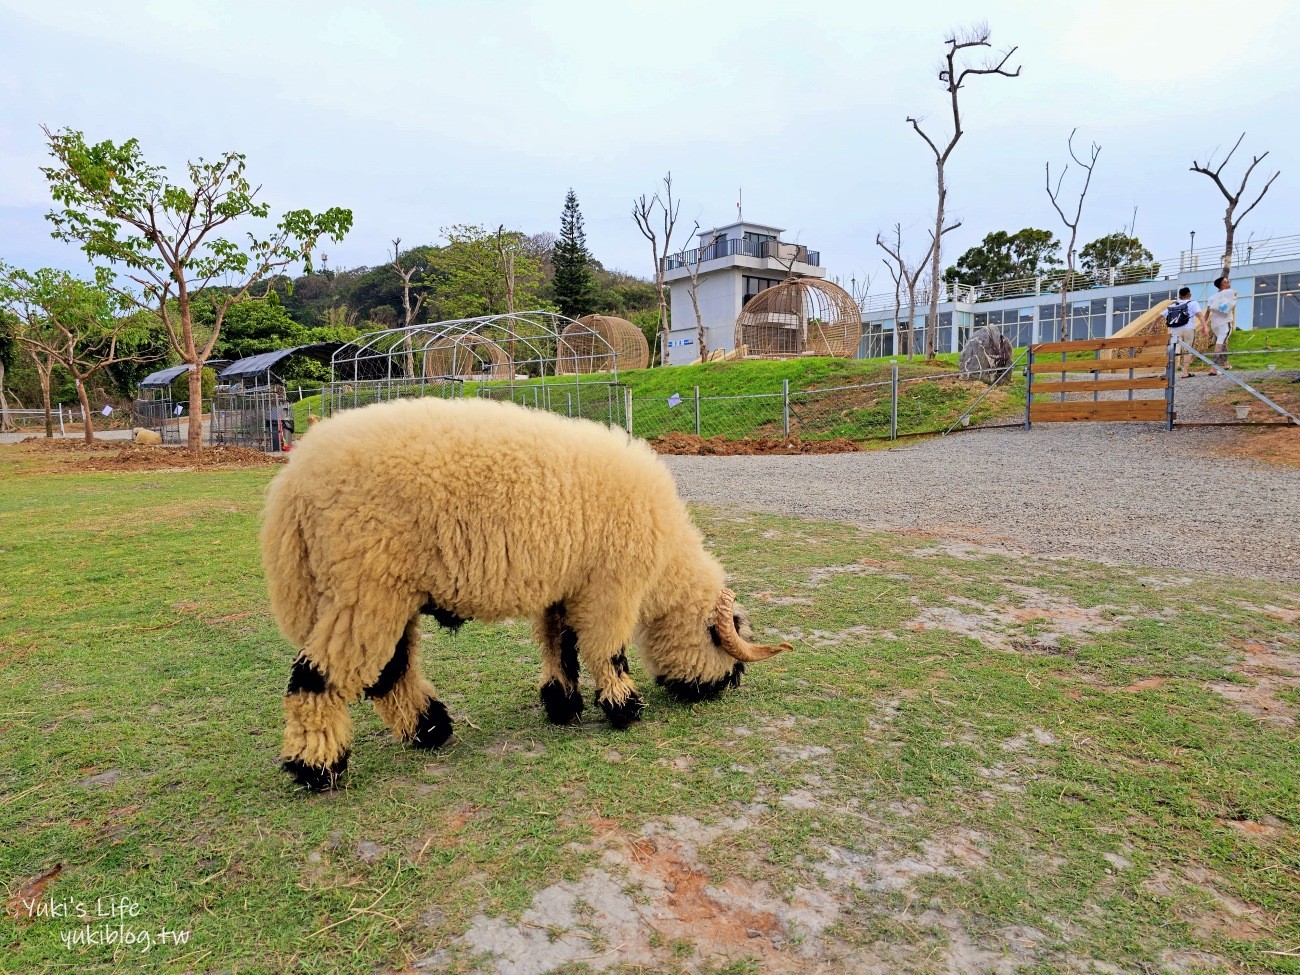
[[[347,768],[352,744],[347,699],[306,654],[294,660],[285,690],[281,767],[312,792],[333,789]]]

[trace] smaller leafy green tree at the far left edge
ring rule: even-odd
[[[147,339],[144,329],[136,316],[121,313],[125,303],[109,280],[104,268],[90,282],[52,268],[26,272],[0,265],[0,308],[17,322],[16,338],[40,372],[47,437],[53,436],[49,419],[53,365],[73,377],[90,443],[95,439],[95,426],[87,384],[114,363],[143,358],[139,346]]]

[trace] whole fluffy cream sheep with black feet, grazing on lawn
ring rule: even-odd
[[[740,684],[758,646],[723,568],[640,441],[482,399],[382,403],[321,422],[266,497],[261,529],[270,607],[299,649],[285,694],[281,760],[309,789],[333,788],[352,740],[348,705],[369,698],[394,734],[434,749],[446,707],[419,667],[420,615],[529,618],[540,697],[578,719],[578,668],[624,728],[642,711],[628,670],[685,701]]]

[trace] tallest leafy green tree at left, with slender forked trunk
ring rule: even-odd
[[[202,367],[229,311],[256,287],[269,287],[269,280],[291,265],[304,263],[309,272],[321,238],[339,240],[352,226],[348,209],[295,209],[269,235],[248,231],[240,243],[221,235],[226,225],[233,229],[238,221],[260,221],[270,213],[257,199],[261,187],[244,177],[242,153],[187,164],[183,185],[172,182],[162,166],[147,162],[135,139],[90,144],[72,129],[44,131],[57,165],[42,172],[62,205],[48,214],[53,235],[81,244],[101,268],[125,270],[139,292],[113,286],[124,299],[157,311],[173,351],[192,367],[191,403],[203,402]],[[205,292],[214,315],[211,334],[200,341],[194,306]],[[202,425],[191,422],[191,450],[202,447]]]

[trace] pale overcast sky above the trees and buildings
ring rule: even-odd
[[[376,264],[387,242],[451,224],[559,229],[568,187],[588,244],[649,276],[630,203],[667,170],[682,234],[745,217],[786,229],[848,281],[888,278],[875,247],[894,222],[923,250],[933,157],[907,114],[946,138],[935,77],[945,32],[983,17],[1015,79],[962,95],[949,166],[962,228],[945,264],[989,230],[1061,230],[1044,161],[1066,139],[1102,146],[1080,243],[1127,228],[1158,257],[1222,240],[1222,200],[1188,172],[1247,136],[1282,177],[1242,226],[1300,233],[1300,5],[1182,0],[1092,4],[243,3],[0,0],[0,260],[84,266],[48,235],[39,126],[135,136],[151,161],[225,150],[273,208],[350,207],[330,266]],[[1071,186],[1071,170],[1067,187]]]

